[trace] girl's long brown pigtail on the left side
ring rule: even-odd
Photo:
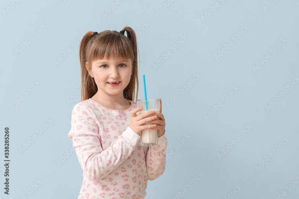
[[[85,101],[91,96],[97,93],[97,85],[89,75],[91,70],[91,63],[88,65],[88,70],[86,69],[86,61],[88,61],[89,52],[87,50],[90,49],[91,39],[93,37],[92,31],[88,31],[82,38],[79,47],[79,62],[81,67],[81,101]]]

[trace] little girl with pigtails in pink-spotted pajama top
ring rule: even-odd
[[[136,114],[142,110],[133,98],[135,86],[138,96],[137,50],[135,32],[127,26],[120,32],[89,31],[80,43],[81,100],[68,133],[83,169],[78,199],[144,198],[147,180],[165,170],[161,99],[159,113]],[[144,129],[158,129],[158,145],[141,146]]]

